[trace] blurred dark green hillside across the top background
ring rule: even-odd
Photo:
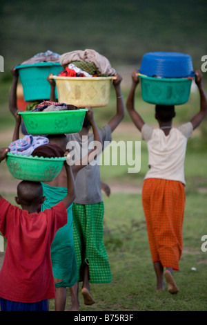
[[[112,66],[135,65],[153,50],[175,50],[200,68],[207,55],[206,0],[1,1],[5,71],[39,52],[93,48]]]

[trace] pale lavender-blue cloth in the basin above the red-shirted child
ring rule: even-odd
[[[44,136],[24,136],[22,139],[12,141],[9,145],[10,153],[30,156],[34,149],[41,145],[48,144],[48,138]]]

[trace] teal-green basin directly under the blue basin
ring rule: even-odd
[[[157,78],[140,75],[141,97],[150,104],[181,105],[189,100],[190,78]]]

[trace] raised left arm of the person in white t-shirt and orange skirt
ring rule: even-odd
[[[137,84],[139,84],[139,76],[137,74],[137,70],[134,70],[132,72],[132,85],[126,101],[126,108],[135,126],[137,129],[139,129],[139,131],[141,131],[141,128],[144,125],[144,120],[142,120],[139,113],[135,111],[135,90],[137,88]]]

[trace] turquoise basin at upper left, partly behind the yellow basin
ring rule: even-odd
[[[39,62],[15,66],[19,71],[19,79],[23,87],[23,97],[26,102],[50,99],[50,84],[47,77],[50,73],[57,75],[62,66],[58,62]],[[57,89],[55,87],[57,98]]]

